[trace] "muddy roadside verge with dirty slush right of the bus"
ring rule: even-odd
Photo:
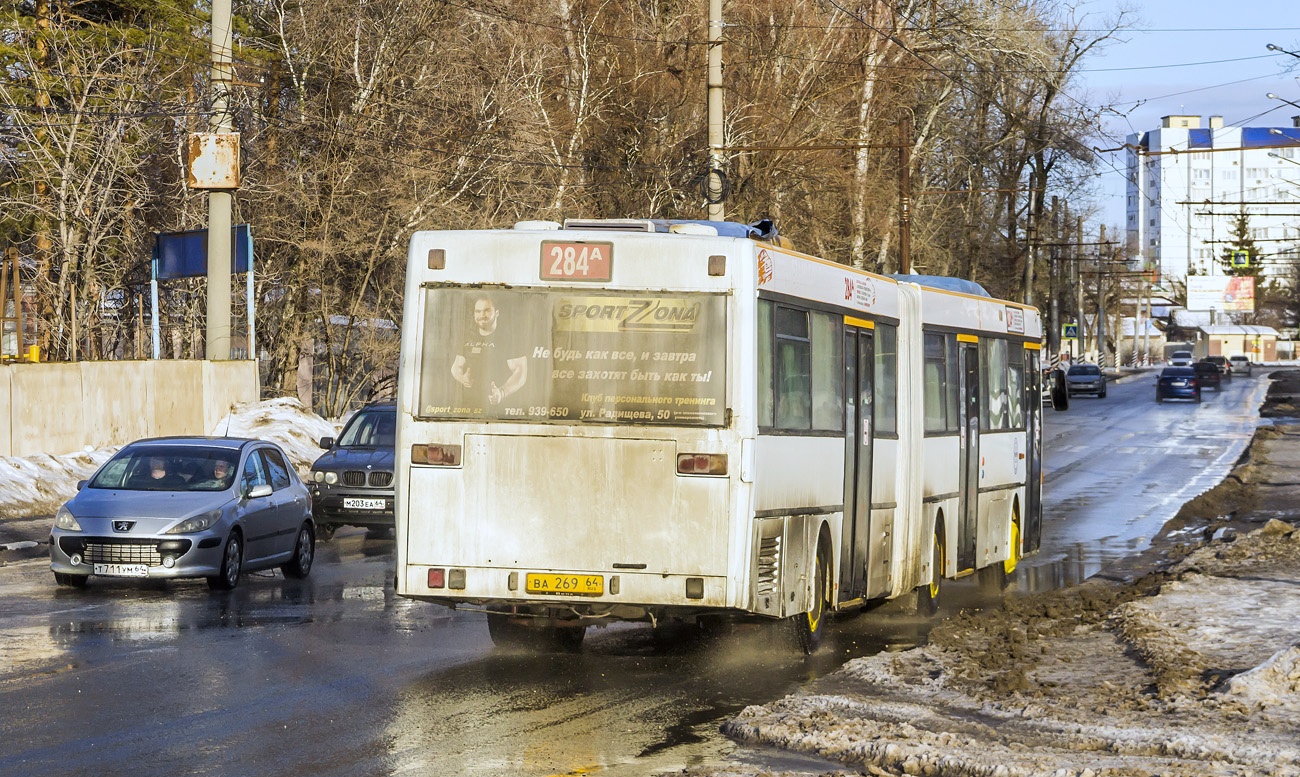
[[[1300,776],[1300,372],[1269,378],[1271,426],[1141,555],[723,730],[842,764],[827,774]]]

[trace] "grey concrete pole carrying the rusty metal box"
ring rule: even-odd
[[[230,29],[230,0],[212,0],[212,118],[213,133],[230,133],[230,82],[233,81],[234,36]],[[208,192],[208,334],[204,359],[230,359],[230,212],[234,195]]]

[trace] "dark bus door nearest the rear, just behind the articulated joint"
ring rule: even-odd
[[[867,591],[871,546],[871,391],[875,344],[870,321],[844,331],[844,528],[840,538],[840,602]]]

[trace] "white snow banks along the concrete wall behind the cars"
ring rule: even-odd
[[[318,440],[338,434],[338,426],[291,398],[235,405],[209,430],[213,437],[254,437],[285,448],[299,474],[321,455]],[[66,456],[0,456],[0,520],[52,515],[77,492],[120,446],[88,448]]]

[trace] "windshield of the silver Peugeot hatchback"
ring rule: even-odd
[[[239,452],[187,446],[129,446],[88,486],[126,491],[224,491],[234,485]]]

